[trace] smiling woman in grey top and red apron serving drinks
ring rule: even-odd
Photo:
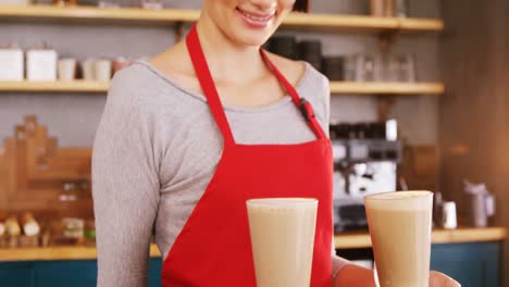
[[[295,0],[203,0],[185,41],[122,70],[94,144],[98,286],[256,286],[245,202],[320,200],[312,286],[374,286],[334,254],[327,79],[260,47]],[[431,286],[457,286],[432,273]]]

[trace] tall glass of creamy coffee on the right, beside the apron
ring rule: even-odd
[[[378,194],[364,203],[378,286],[427,287],[433,194]]]

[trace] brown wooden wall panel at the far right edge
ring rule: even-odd
[[[440,189],[467,219],[462,179],[486,183],[498,204],[492,224],[509,228],[509,1],[442,1],[442,12]],[[505,258],[509,286],[509,248]]]

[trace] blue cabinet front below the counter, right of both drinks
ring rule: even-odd
[[[433,245],[431,269],[462,287],[499,287],[501,252],[500,242]]]

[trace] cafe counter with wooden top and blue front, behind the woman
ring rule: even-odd
[[[505,239],[506,229],[501,227],[435,229],[431,267],[457,278],[463,286],[499,287]],[[342,257],[372,260],[365,232],[336,234],[334,241]],[[150,246],[150,257],[149,286],[159,287],[162,262],[156,245]],[[0,249],[0,286],[46,287],[59,282],[59,286],[92,287],[96,278],[95,247]]]

